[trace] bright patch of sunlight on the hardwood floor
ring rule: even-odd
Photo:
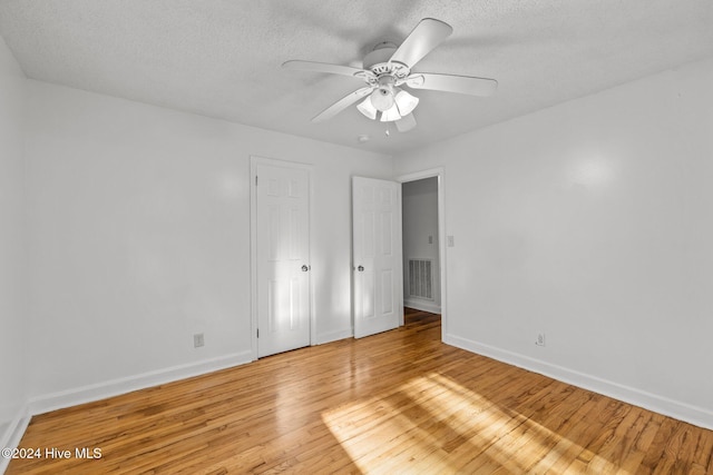
[[[522,473],[538,461],[539,472],[553,467],[564,453],[587,455],[547,427],[520,414],[507,414],[436,373],[325,412],[322,419],[356,466],[370,474],[473,473],[497,467]],[[607,461],[588,455],[587,463],[616,471]]]

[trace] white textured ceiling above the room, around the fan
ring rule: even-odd
[[[360,67],[426,17],[455,31],[413,70],[495,97],[417,91],[418,127],[389,137],[354,107],[310,121],[363,83],[282,62]],[[33,79],[392,154],[713,56],[713,1],[0,0],[0,33]]]

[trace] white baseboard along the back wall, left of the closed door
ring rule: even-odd
[[[252,352],[241,352],[218,358],[204,359],[170,368],[148,372],[136,376],[111,379],[75,389],[62,390],[33,397],[29,402],[29,414],[37,415],[79,404],[91,403],[107,397],[119,396],[178,379],[243,365],[253,360]]]

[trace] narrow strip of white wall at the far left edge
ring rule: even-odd
[[[9,444],[27,397],[25,91],[25,76],[0,38],[0,447]]]

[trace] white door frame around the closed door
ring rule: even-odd
[[[260,165],[273,166],[273,167],[286,167],[295,168],[300,170],[306,170],[309,180],[309,222],[307,229],[310,231],[309,253],[310,261],[313,260],[312,255],[312,241],[314,236],[314,219],[312,219],[312,212],[314,209],[314,185],[312,178],[314,177],[314,166],[311,164],[302,164],[299,161],[280,160],[276,158],[260,157],[255,155],[250,156],[250,329],[251,329],[251,354],[252,360],[257,360],[257,167]],[[311,265],[310,265],[311,267]],[[316,342],[316,325],[314,321],[314,278],[312,277],[312,270],[310,269],[310,346]]]

